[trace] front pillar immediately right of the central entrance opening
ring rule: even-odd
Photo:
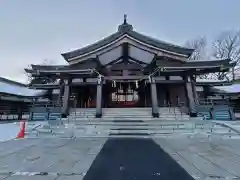
[[[157,101],[157,87],[155,79],[149,77],[152,99],[152,116],[159,117],[158,101]]]

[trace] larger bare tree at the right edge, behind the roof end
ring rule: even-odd
[[[240,63],[240,31],[225,31],[221,33],[213,42],[213,57],[217,59],[230,59],[231,63]],[[229,75],[235,80],[235,69],[233,67],[229,72],[217,73],[218,79],[227,78]]]

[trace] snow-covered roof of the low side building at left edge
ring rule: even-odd
[[[41,96],[44,94],[42,90],[29,89],[27,85],[21,84],[9,79],[0,78],[0,93],[6,93],[16,96]]]

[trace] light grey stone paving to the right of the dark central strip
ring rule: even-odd
[[[155,139],[195,179],[240,179],[240,140]]]

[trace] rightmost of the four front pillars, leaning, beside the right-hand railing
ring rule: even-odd
[[[186,89],[186,95],[187,95],[187,101],[188,101],[189,114],[190,116],[196,116],[192,80],[190,77],[186,77],[185,89]]]

